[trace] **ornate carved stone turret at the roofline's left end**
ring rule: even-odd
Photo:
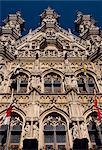
[[[0,27],[0,35],[2,42],[15,41],[22,33],[24,20],[21,13],[17,11],[15,14],[9,14],[4,20],[4,26]]]

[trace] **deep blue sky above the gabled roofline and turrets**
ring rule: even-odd
[[[102,1],[77,1],[77,0],[0,0],[1,12],[0,12],[0,24],[2,20],[6,18],[9,13],[15,13],[20,10],[25,23],[25,33],[30,28],[35,29],[40,23],[40,14],[48,6],[55,9],[55,11],[61,16],[60,26],[68,29],[71,28],[74,31],[74,20],[76,18],[76,12],[79,10],[85,14],[91,14],[97,21],[97,25],[102,27]]]

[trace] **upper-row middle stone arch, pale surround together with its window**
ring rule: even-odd
[[[42,73],[42,92],[62,93],[64,91],[63,74],[56,69],[49,69]]]

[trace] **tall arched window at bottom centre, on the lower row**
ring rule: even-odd
[[[45,149],[66,150],[66,122],[57,113],[51,113],[44,119]]]

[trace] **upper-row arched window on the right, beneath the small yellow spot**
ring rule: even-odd
[[[77,82],[80,93],[94,93],[98,91],[94,78],[90,74],[84,75],[84,73],[80,73],[77,75]]]

